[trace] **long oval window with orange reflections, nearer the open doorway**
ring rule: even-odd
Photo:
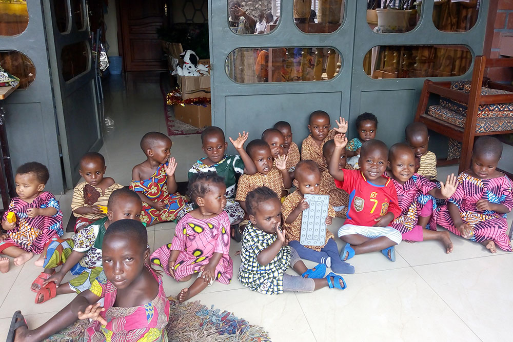
[[[226,58],[236,83],[327,81],[340,72],[337,50],[319,48],[239,48]]]

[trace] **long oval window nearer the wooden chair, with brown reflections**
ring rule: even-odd
[[[371,78],[459,76],[471,64],[472,53],[463,45],[376,46],[363,60]]]

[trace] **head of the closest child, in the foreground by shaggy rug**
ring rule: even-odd
[[[126,289],[143,276],[149,257],[148,233],[142,223],[122,219],[112,223],[102,243],[103,271],[117,289]]]

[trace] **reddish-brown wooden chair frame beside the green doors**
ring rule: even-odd
[[[427,126],[428,129],[458,140],[462,143],[460,158],[451,160],[452,163],[447,163],[459,163],[460,168],[458,172],[462,172],[463,170],[469,168],[472,147],[474,144],[474,139],[477,136],[513,133],[513,127],[508,127],[507,130],[483,131],[480,129],[478,132],[476,131],[478,120],[483,120],[483,118],[478,118],[478,110],[480,105],[513,103],[513,93],[493,95],[481,94],[482,80],[485,68],[494,67],[513,67],[513,58],[486,59],[485,56],[476,56],[469,93],[465,93],[464,91],[457,89],[451,89],[451,82],[433,82],[430,79],[426,79],[424,81],[419,105],[415,114],[415,121],[422,122]],[[486,85],[490,89],[499,89],[513,92],[513,87],[496,82],[488,81],[486,82]],[[464,117],[464,124],[458,126],[448,122],[448,120],[443,120],[438,117],[429,115],[429,110],[428,112],[426,112],[426,110],[428,109],[428,100],[431,94],[437,94],[439,96],[454,100],[462,105],[466,105],[466,117]],[[509,120],[509,118],[507,119]]]

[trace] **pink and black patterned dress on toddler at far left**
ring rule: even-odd
[[[29,208],[55,208],[53,216],[28,217]],[[48,191],[40,193],[32,203],[27,203],[19,197],[14,197],[9,209],[4,213],[13,212],[16,215],[16,228],[7,231],[7,238],[0,242],[0,252],[8,247],[19,247],[27,252],[40,254],[45,244],[52,238],[61,236],[63,232],[63,213],[59,202]]]

